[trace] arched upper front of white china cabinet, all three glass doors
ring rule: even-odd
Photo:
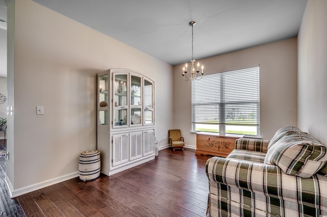
[[[106,118],[110,129],[154,125],[154,82],[151,79],[124,69],[110,70],[109,76],[106,74],[103,78],[103,81],[99,80],[100,89],[105,90],[107,88],[104,87],[109,86],[111,93],[109,98],[107,94],[101,99],[110,104],[110,110],[101,112],[100,116],[105,118],[110,115]]]

